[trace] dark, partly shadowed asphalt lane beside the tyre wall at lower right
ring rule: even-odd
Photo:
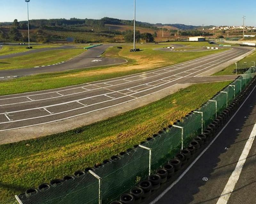
[[[255,123],[256,87],[228,126],[185,176],[160,200],[155,200],[156,202],[151,204],[216,204],[237,162],[242,161],[239,160],[240,155]],[[222,201],[219,204],[255,204],[255,168],[256,142],[254,141],[236,185],[234,183],[236,176],[232,176],[235,188],[231,191],[228,202]],[[203,181],[204,177],[207,177],[208,181]]]

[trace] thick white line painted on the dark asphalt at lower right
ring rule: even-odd
[[[249,138],[244,146],[243,152],[236,164],[236,168],[232,172],[231,176],[229,177],[228,183],[226,184],[226,186],[225,186],[224,190],[222,191],[221,196],[216,204],[227,204],[228,203],[228,199],[229,199],[231,193],[233,193],[236,183],[237,183],[237,181],[240,177],[240,174],[243,170],[243,166],[246,161],[246,158],[248,157],[250,149],[252,148],[252,144],[253,144],[255,136],[256,136],[256,124],[254,124],[254,126],[252,128],[251,135],[249,136]]]

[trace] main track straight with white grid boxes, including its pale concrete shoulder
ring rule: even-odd
[[[142,106],[142,100],[150,97],[154,97],[153,101],[158,100],[186,87],[182,84],[234,80],[237,76],[198,76],[250,52],[252,49],[248,47],[233,48],[140,74],[54,90],[1,96],[0,143],[49,135],[55,133],[53,130],[61,132],[79,127],[81,121],[84,124],[103,120],[112,116],[109,115],[111,108],[114,108],[114,115],[123,113],[138,107],[138,104]],[[158,96],[162,92],[164,95]],[[136,106],[132,103],[136,103]],[[119,107],[123,108],[122,111]],[[46,127],[47,124],[52,127]]]

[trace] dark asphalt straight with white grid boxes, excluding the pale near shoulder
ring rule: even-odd
[[[150,96],[176,84],[206,82],[208,80],[204,77],[197,78],[197,76],[250,50],[248,48],[230,49],[131,76],[55,90],[1,96],[0,132],[47,124],[108,109]],[[212,77],[212,81],[231,78],[233,79],[234,76]]]

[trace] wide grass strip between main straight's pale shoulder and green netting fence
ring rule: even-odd
[[[92,166],[145,140],[198,108],[230,82],[196,84],[108,120],[38,139],[0,145],[0,201]]]

